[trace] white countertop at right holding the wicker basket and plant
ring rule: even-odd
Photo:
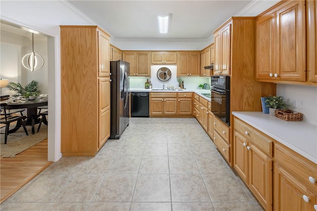
[[[234,111],[232,114],[317,164],[317,126],[284,121],[263,112]]]

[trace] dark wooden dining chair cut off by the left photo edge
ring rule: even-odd
[[[1,114],[1,117],[0,117],[0,124],[3,124],[5,126],[5,132],[4,132],[4,144],[6,144],[6,140],[7,140],[7,136],[8,136],[8,133],[9,133],[9,127],[10,127],[10,123],[13,123],[13,122],[17,122],[19,121],[21,123],[21,125],[23,126],[23,129],[26,133],[26,135],[29,135],[28,134],[28,131],[25,127],[25,124],[24,124],[24,121],[26,119],[26,116],[12,116],[12,115],[8,115],[6,113],[6,109],[5,109],[5,106],[7,106],[7,103],[0,103],[0,108],[3,109],[3,114]]]

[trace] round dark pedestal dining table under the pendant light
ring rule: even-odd
[[[5,106],[6,109],[27,109],[27,118],[24,121],[25,125],[32,126],[32,134],[35,134],[34,126],[40,123],[40,118],[38,116],[38,107],[40,106],[47,106],[48,100],[44,100],[41,98],[36,98],[34,100],[25,99],[22,102],[13,102],[7,103]],[[48,125],[46,119],[43,119],[43,123]],[[17,121],[16,126],[9,130],[9,133],[13,133],[21,127],[21,123]]]

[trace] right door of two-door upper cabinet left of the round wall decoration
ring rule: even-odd
[[[136,53],[136,76],[151,76],[150,52]]]

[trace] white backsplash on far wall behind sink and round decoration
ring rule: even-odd
[[[170,69],[172,76],[170,80],[167,82],[162,82],[158,79],[157,73],[159,68],[167,67]],[[165,84],[165,88],[167,86],[178,87],[177,82],[177,66],[176,65],[151,65],[151,76],[152,77],[129,77],[130,79],[130,88],[144,88],[144,84],[149,79],[152,83],[153,88],[163,88],[163,84]],[[210,85],[211,78],[210,77],[180,77],[184,80],[184,87],[186,89],[197,89],[199,84],[207,83]]]

